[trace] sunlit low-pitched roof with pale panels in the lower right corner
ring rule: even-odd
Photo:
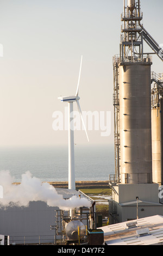
[[[105,245],[163,245],[163,216],[155,215],[101,227]]]

